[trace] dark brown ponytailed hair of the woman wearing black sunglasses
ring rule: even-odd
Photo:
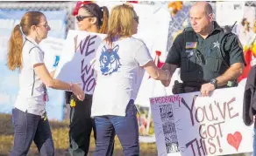
[[[99,33],[107,33],[109,20],[109,10],[107,7],[100,7],[96,3],[86,3],[81,8],[87,10],[90,16],[97,18],[97,25],[100,28]]]

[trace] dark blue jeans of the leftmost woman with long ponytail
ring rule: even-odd
[[[53,156],[54,146],[48,120],[39,115],[12,110],[14,125],[14,145],[11,156],[26,156],[32,141],[38,147],[40,156]]]

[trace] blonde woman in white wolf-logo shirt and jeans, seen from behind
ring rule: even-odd
[[[117,134],[124,156],[139,155],[139,126],[134,100],[146,70],[151,78],[166,80],[169,71],[157,68],[137,33],[139,17],[132,4],[111,10],[107,37],[96,51],[96,88],[91,116],[96,122],[94,155],[111,155]]]

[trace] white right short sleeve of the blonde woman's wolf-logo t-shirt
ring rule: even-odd
[[[146,44],[142,44],[138,51],[135,53],[135,60],[138,62],[139,66],[144,66],[149,61],[152,61],[153,58],[151,57]]]

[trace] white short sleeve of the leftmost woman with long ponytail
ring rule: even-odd
[[[44,63],[44,52],[40,51],[38,47],[33,47],[29,52],[32,67],[34,64]]]

